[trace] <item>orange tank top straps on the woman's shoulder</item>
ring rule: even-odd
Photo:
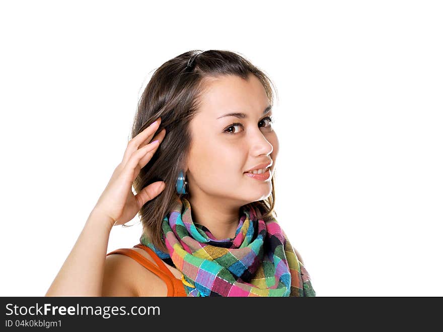
[[[185,286],[183,285],[182,281],[180,279],[177,279],[172,274],[172,272],[166,267],[165,262],[150,247],[146,247],[145,245],[138,243],[134,245],[134,248],[142,248],[144,251],[149,253],[149,255],[153,257],[157,265],[137,251],[130,248],[116,249],[107,253],[106,255],[118,253],[133,258],[135,261],[139,262],[147,270],[155,273],[165,282],[166,286],[168,287],[167,296],[187,296],[185,292]]]

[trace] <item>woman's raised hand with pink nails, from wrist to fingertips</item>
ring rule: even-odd
[[[122,225],[132,220],[147,201],[151,201],[165,188],[165,182],[157,181],[146,186],[136,195],[132,193],[132,183],[140,169],[151,160],[165,137],[166,129],[163,128],[155,137],[154,141],[158,140],[158,142],[151,142],[160,123],[159,117],[128,142],[123,160],[115,168],[94,208],[108,216],[113,223],[112,226]]]

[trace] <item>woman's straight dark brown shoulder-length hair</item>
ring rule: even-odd
[[[200,54],[194,59],[192,67],[187,68],[188,60],[197,53]],[[140,170],[133,187],[138,193],[153,182],[166,183],[165,189],[139,211],[143,236],[165,252],[168,250],[162,240],[162,221],[179,196],[175,185],[190,150],[192,136],[189,123],[197,113],[199,97],[211,78],[235,75],[247,80],[250,74],[260,80],[272,105],[274,98],[271,86],[275,92],[276,89],[267,75],[240,54],[226,50],[193,50],[165,62],[154,72],[140,97],[131,138],[158,117],[162,118],[162,122],[157,132],[166,128],[166,136],[153,158]],[[273,177],[271,182],[272,194],[265,200],[250,203],[259,209],[265,221],[275,214]],[[188,198],[187,195],[183,194]]]

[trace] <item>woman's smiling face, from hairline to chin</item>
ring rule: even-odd
[[[272,190],[278,139],[262,84],[250,74],[248,81],[221,76],[206,87],[198,113],[190,122],[192,142],[186,176],[191,197],[205,193],[240,206],[264,200]],[[229,113],[244,116],[226,116]],[[271,162],[267,179],[245,173]]]

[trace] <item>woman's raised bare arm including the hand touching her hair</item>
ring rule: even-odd
[[[153,157],[166,134],[163,128],[149,143],[161,122],[158,118],[128,142],[121,163],[90,213],[77,242],[46,292],[46,296],[102,296],[109,233],[135,217],[141,207],[164,188],[163,181],[144,187],[136,195],[132,183]],[[115,278],[115,276],[113,276]]]

